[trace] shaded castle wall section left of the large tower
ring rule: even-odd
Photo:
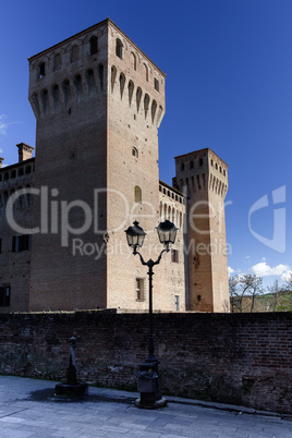
[[[5,209],[11,195],[33,185],[34,159],[0,169],[0,288],[5,289],[5,295],[10,294],[10,299],[3,301],[3,290],[1,290],[0,313],[28,309],[32,243],[27,242],[26,246],[15,247],[15,240],[20,233],[8,223]],[[12,214],[17,226],[25,229],[32,228],[32,208],[31,195],[24,194],[15,199]]]

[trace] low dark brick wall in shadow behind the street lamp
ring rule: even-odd
[[[62,379],[77,338],[81,380],[135,389],[147,314],[0,315],[0,373]],[[161,389],[202,400],[292,412],[292,314],[158,314]]]

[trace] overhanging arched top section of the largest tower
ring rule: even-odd
[[[135,117],[159,126],[165,73],[109,19],[29,61],[29,101],[36,118],[117,94]]]

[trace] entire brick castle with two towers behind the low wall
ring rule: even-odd
[[[229,312],[228,167],[205,148],[159,181],[166,75],[109,19],[28,59],[36,157],[0,169],[0,312],[147,311],[147,272],[126,245],[138,220],[179,228],[154,277],[154,309]],[[0,167],[2,163],[0,159]]]

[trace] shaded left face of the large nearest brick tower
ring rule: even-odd
[[[89,53],[90,37],[98,38],[96,53]],[[29,60],[36,187],[47,190],[53,216],[48,229],[34,236],[32,311],[107,305],[107,263],[100,251],[107,229],[107,46],[101,24]],[[95,190],[104,193],[96,197]],[[36,223],[41,204],[37,197]],[[99,253],[92,253],[96,245]]]

